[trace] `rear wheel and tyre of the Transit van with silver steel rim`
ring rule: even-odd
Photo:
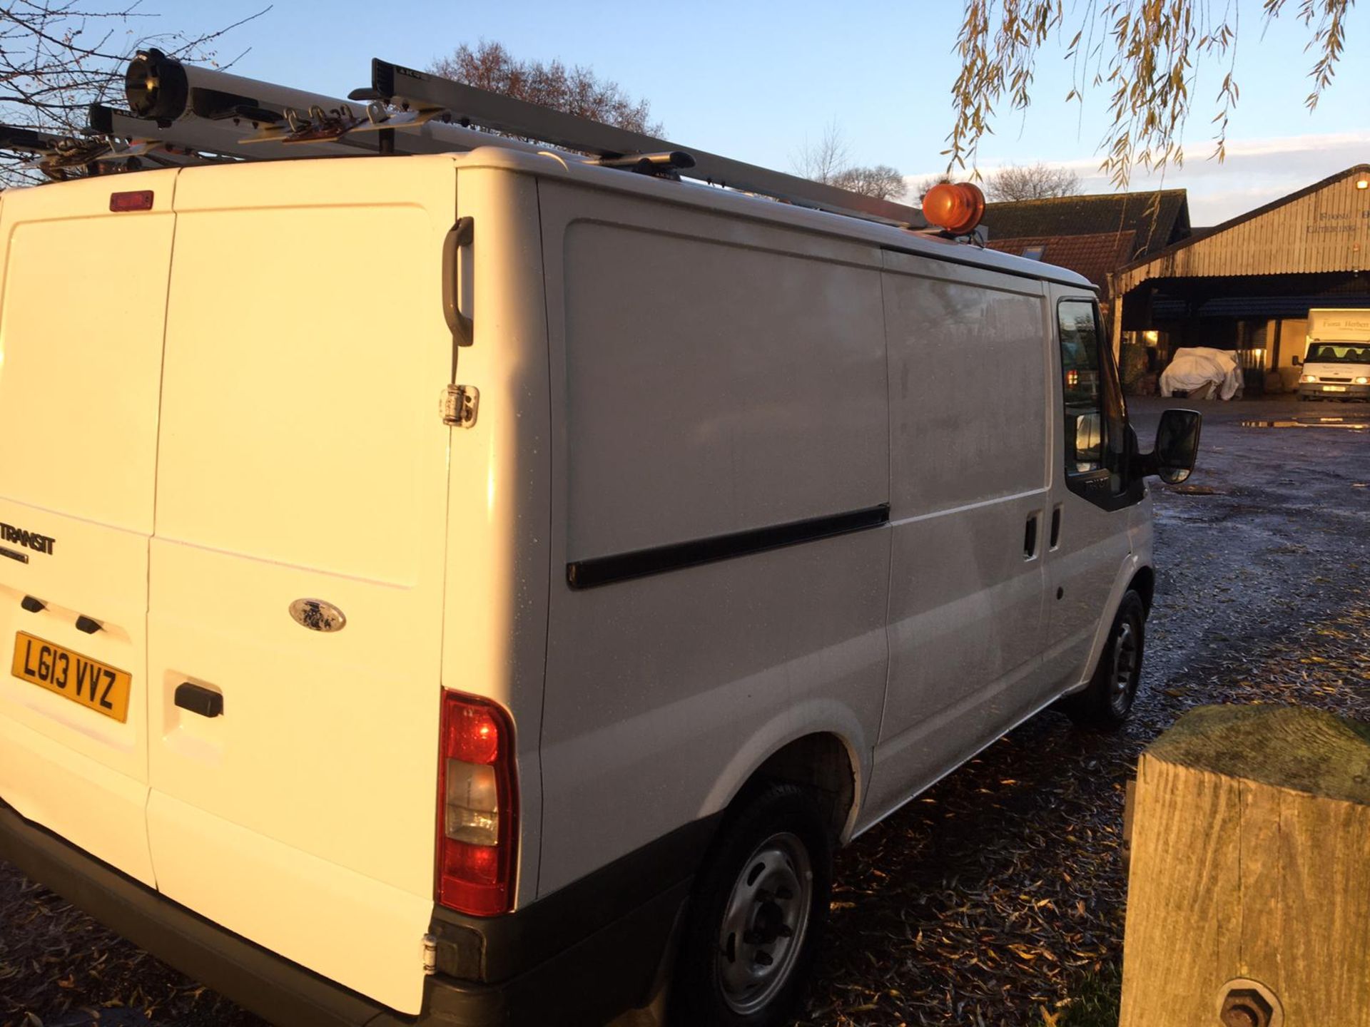
[[[695,882],[671,1023],[786,1023],[818,952],[832,875],[832,838],[811,791],[770,783],[743,798]]]

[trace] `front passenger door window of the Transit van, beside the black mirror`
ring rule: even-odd
[[[1062,300],[1058,318],[1066,482],[1110,509],[1136,503],[1143,492],[1128,475],[1128,409],[1118,370],[1106,349],[1099,307],[1093,300]]]

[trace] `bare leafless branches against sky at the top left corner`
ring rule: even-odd
[[[11,0],[0,7],[0,122],[77,136],[86,127],[92,103],[123,105],[123,71],[134,51],[155,45],[181,60],[227,67],[237,58],[221,63],[215,44],[271,10],[192,36],[141,31],[152,27],[158,15],[138,5],[138,0],[118,5],[100,5],[99,0]],[[0,155],[0,183],[37,178],[19,168],[21,160]]]

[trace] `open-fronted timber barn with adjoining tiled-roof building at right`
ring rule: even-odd
[[[1099,286],[1134,383],[1181,346],[1217,346],[1248,393],[1292,392],[1308,311],[1370,308],[1370,164],[1211,229],[1191,227],[1184,189],[992,203],[984,223],[992,249]]]

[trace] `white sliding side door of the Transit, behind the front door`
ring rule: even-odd
[[[891,670],[870,815],[1034,708],[1049,542],[1041,283],[886,267]]]

